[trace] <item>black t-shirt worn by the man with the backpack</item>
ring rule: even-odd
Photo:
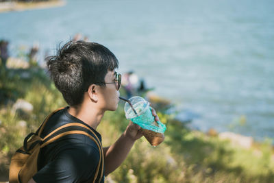
[[[83,121],[71,116],[68,108],[66,107],[50,117],[42,132],[42,138],[66,123],[86,125]],[[101,141],[101,135],[92,127],[88,127]],[[40,150],[38,172],[33,179],[38,183],[90,182],[95,177],[99,158],[99,149],[92,139],[84,134],[69,134]],[[101,182],[104,182],[104,175]]]

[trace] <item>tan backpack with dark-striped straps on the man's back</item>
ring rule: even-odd
[[[103,148],[99,138],[96,134],[90,130],[86,125],[81,123],[67,123],[53,130],[53,132],[49,133],[45,138],[41,138],[42,130],[44,129],[49,118],[59,110],[53,111],[49,116],[45,119],[45,121],[38,127],[36,133],[32,132],[25,137],[23,146],[19,148],[15,154],[12,156],[12,160],[10,162],[10,183],[18,183],[18,182],[28,182],[32,179],[32,177],[38,171],[38,155],[40,149],[53,143],[58,140],[62,136],[66,136],[69,134],[84,134],[95,141],[100,154],[99,163],[97,169],[95,171],[95,178],[90,180],[90,182],[101,182],[103,177]],[[93,134],[93,136],[90,134]],[[96,138],[96,139],[95,139]],[[100,173],[99,173],[100,171]]]

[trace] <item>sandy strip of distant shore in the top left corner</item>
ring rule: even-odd
[[[46,2],[30,2],[30,3],[2,2],[0,3],[0,13],[23,12],[26,10],[56,8],[63,5],[66,5],[66,1],[64,0],[53,0],[53,1],[46,1]]]

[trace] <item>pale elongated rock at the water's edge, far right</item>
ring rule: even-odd
[[[229,139],[232,144],[240,145],[245,149],[250,149],[253,144],[253,138],[251,136],[242,136],[240,134],[234,134],[233,132],[221,132],[219,134],[220,139]]]

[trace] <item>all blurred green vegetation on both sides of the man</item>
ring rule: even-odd
[[[29,77],[22,77],[27,73]],[[36,130],[47,114],[65,106],[62,95],[38,66],[28,69],[3,69],[0,73],[0,181],[8,179],[12,154],[23,138]],[[123,93],[123,90],[121,91]],[[32,104],[31,112],[16,110],[23,99]],[[156,105],[157,106],[157,105]],[[107,182],[271,182],[274,180],[274,156],[267,140],[243,149],[218,137],[188,130],[171,115],[158,115],[167,130],[164,143],[151,147],[145,138],[134,145],[119,169]],[[116,112],[106,112],[98,131],[107,146],[119,138],[127,126],[123,103]]]

